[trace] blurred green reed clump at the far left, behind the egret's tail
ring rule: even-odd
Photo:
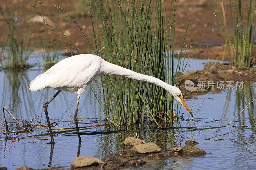
[[[20,69],[27,67],[26,61],[28,56],[33,49],[28,49],[30,34],[31,34],[31,23],[27,22],[28,18],[33,16],[33,11],[22,11],[25,13],[22,17],[20,14],[20,1],[14,5],[5,0],[5,6],[0,6],[0,14],[3,17],[3,27],[1,28],[1,34],[7,34],[5,40],[2,40],[2,48],[4,51],[4,65],[6,68]],[[3,38],[3,36],[1,36]]]

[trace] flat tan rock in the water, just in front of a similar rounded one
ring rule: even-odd
[[[137,144],[133,146],[130,151],[132,153],[154,153],[154,152],[160,152],[161,148],[159,148],[153,142],[150,142],[146,144]]]

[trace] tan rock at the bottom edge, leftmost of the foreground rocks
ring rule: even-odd
[[[99,158],[90,158],[90,157],[76,157],[71,163],[71,169],[83,167],[83,166],[92,166],[97,164],[102,164],[103,162]]]

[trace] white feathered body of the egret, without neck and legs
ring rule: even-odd
[[[76,93],[84,88],[100,72],[100,57],[97,55],[75,55],[56,63],[43,74],[36,76],[29,84],[29,90],[36,91],[52,87]]]

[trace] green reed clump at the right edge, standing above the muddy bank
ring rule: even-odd
[[[219,4],[215,1],[221,21],[218,20],[226,35],[226,45],[228,47],[230,65],[236,67],[252,67],[254,65],[252,52],[255,36],[255,26],[253,24],[255,17],[255,2],[249,0],[247,11],[242,10],[241,3],[241,0],[236,0],[234,3],[233,1],[230,1],[229,4],[233,33],[233,40],[231,40],[231,37],[228,34],[224,6],[221,4],[220,9]],[[244,19],[244,17],[246,18]]]

